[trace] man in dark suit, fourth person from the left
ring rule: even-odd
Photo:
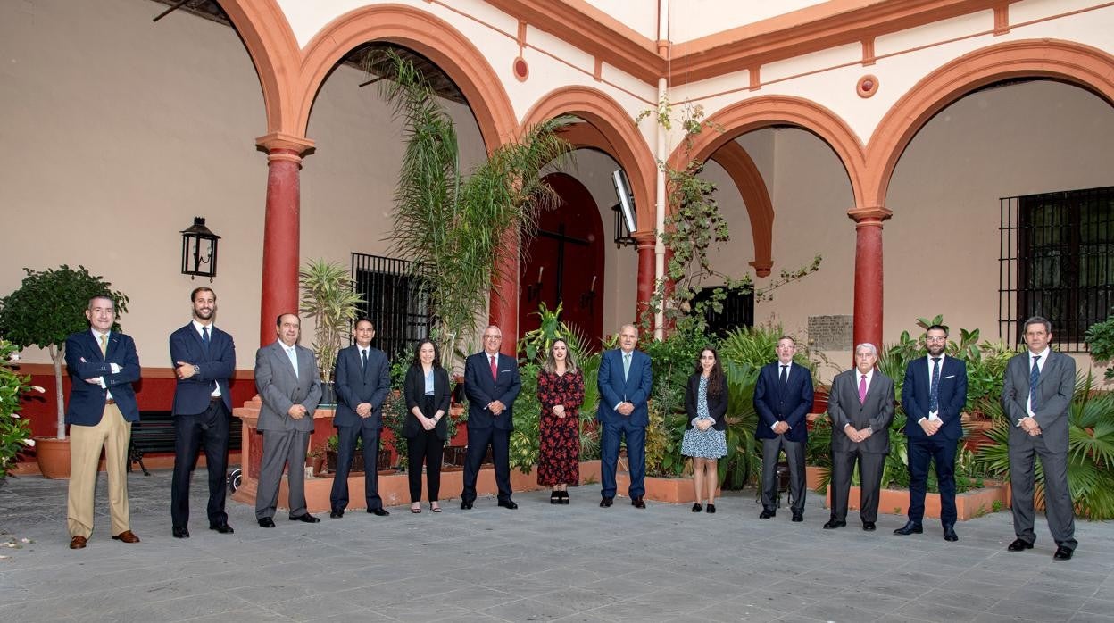
[[[363,494],[368,513],[390,515],[379,497],[379,436],[383,428],[383,401],[391,390],[391,364],[383,351],[371,348],[375,325],[361,318],[355,321],[355,345],[336,353],[336,476],[329,495],[332,510],[339,519],[348,507],[348,475],[355,455],[356,439],[363,441]]]

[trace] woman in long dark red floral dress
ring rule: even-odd
[[[568,504],[569,484],[580,481],[580,403],[584,374],[565,340],[555,340],[538,371],[538,484],[551,487],[549,504]]]

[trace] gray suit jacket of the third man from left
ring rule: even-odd
[[[294,345],[297,356],[297,376],[290,358],[283,350],[281,340],[255,352],[255,389],[260,392],[263,407],[260,408],[257,430],[313,431],[313,411],[321,402],[321,377],[313,351]],[[306,416],[300,420],[290,417],[294,403],[305,407]]]

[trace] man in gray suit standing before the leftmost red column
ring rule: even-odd
[[[263,407],[256,427],[263,434],[263,459],[255,491],[260,527],[275,527],[278,484],[287,466],[290,520],[315,524],[305,509],[305,450],[313,432],[313,411],[321,401],[321,377],[313,351],[297,344],[302,321],[293,313],[278,317],[278,339],[255,352],[255,389]]]

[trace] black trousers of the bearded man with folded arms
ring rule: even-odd
[[[226,524],[224,498],[228,488],[228,409],[222,400],[209,402],[204,412],[174,417],[174,476],[170,480],[170,523],[184,528],[189,524],[189,479],[197,466],[197,451],[205,449],[208,469],[211,526]]]

